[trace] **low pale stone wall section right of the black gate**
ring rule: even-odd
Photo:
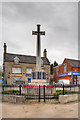
[[[73,101],[78,101],[78,94],[71,94],[71,95],[59,95],[59,102],[61,104],[69,103]]]

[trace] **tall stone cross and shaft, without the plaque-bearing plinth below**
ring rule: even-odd
[[[41,70],[41,41],[40,35],[45,35],[45,31],[40,31],[40,25],[37,25],[37,31],[32,31],[32,35],[37,35],[37,51],[36,51],[36,70]]]

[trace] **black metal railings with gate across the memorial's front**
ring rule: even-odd
[[[2,94],[23,95],[27,101],[52,102],[59,95],[78,94],[80,85],[1,85]]]

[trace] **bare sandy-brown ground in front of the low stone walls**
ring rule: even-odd
[[[3,102],[2,118],[78,118],[78,102],[68,104],[12,104]]]

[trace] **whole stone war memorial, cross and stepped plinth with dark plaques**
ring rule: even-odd
[[[37,25],[37,31],[32,31],[32,35],[37,35],[36,50],[36,69],[32,72],[32,82],[30,85],[48,85],[46,82],[46,72],[41,69],[41,41],[40,36],[45,35],[45,31],[40,31],[40,25]]]

